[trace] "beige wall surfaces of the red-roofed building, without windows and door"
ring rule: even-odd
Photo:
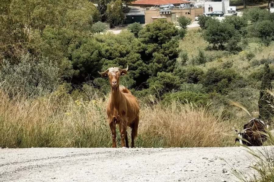
[[[181,16],[185,16],[190,18],[191,20],[194,20],[195,16],[198,16],[200,14],[203,14],[204,8],[192,8],[192,9],[172,9],[170,14],[160,14],[159,10],[146,10],[145,11],[145,23],[151,23],[152,18],[151,17],[167,17],[166,20],[168,22],[171,21],[171,14],[175,13],[175,21]]]

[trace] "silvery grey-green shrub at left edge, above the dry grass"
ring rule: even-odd
[[[57,65],[48,58],[36,59],[23,55],[19,64],[0,61],[0,86],[10,96],[44,96],[56,89],[61,82]]]

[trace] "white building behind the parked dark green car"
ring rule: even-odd
[[[214,11],[222,11],[224,14],[228,13],[227,7],[230,6],[229,0],[222,1],[205,1],[204,11],[205,13],[211,13]]]

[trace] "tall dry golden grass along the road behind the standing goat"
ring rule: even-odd
[[[105,120],[107,101],[103,99],[75,100],[60,89],[38,99],[9,99],[0,90],[0,102],[0,147],[111,147]],[[221,121],[206,108],[179,103],[166,108],[141,104],[140,116],[137,147],[234,144],[234,139],[226,135],[232,132],[233,123]]]

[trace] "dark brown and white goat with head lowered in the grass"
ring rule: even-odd
[[[246,146],[262,146],[266,140],[266,136],[263,134],[266,133],[265,128],[268,128],[268,126],[265,125],[264,121],[254,118],[244,125],[243,130],[238,131],[234,129],[238,135],[235,142],[239,141],[240,144]]]

